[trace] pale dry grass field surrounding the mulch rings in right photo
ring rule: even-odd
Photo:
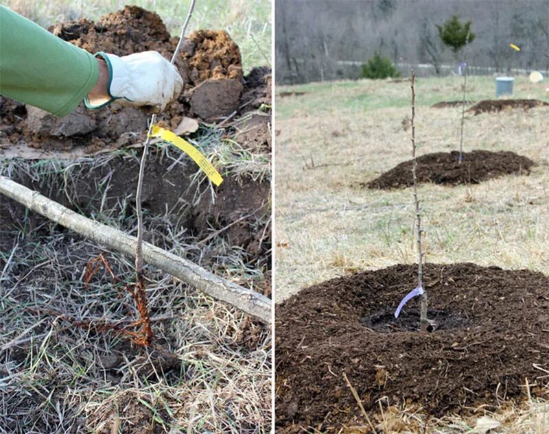
[[[494,97],[493,77],[471,77],[469,83],[469,99]],[[518,77],[513,96],[548,100],[545,88]],[[409,83],[314,83],[281,86],[277,95],[281,92],[306,94],[277,96],[275,106],[277,302],[354,270],[415,263],[412,190],[360,186],[410,159],[410,130],[404,128],[411,114]],[[458,149],[461,108],[430,108],[455,99],[461,99],[456,77],[417,80],[419,154]],[[549,274],[548,117],[549,108],[466,115],[465,151],[511,150],[537,167],[530,176],[478,185],[419,186],[427,261]],[[537,405],[541,416],[536,418],[549,421],[543,405]],[[548,425],[538,426],[538,431],[515,425],[514,431],[501,432],[543,433]]]

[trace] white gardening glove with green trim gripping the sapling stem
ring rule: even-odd
[[[96,53],[108,67],[106,89],[110,99],[90,101],[84,99],[87,108],[100,108],[118,100],[122,106],[150,106],[152,112],[161,112],[168,103],[177,99],[183,89],[183,78],[176,67],[157,51],[129,56]]]

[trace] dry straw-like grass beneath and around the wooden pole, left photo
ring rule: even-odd
[[[75,180],[114,155],[2,160],[0,172],[32,176],[78,204]],[[103,206],[109,179],[95,179],[95,218],[132,233],[135,218],[124,217],[130,192],[117,206]],[[177,222],[184,213],[146,216],[150,241],[236,282],[261,285],[267,259],[257,261],[222,237],[199,245]],[[117,423],[119,433],[270,431],[268,327],[151,267],[145,274],[153,346],[75,326],[67,318],[121,326],[137,318],[121,290],[135,278],[132,260],[105,252],[121,281],[113,284],[101,271],[86,287],[86,264],[102,252],[99,245],[21,210],[13,217],[19,228],[1,228],[13,245],[0,252],[0,433],[110,433]]]

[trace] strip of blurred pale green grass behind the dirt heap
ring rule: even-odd
[[[0,0],[15,12],[47,27],[51,23],[80,18],[97,20],[126,4],[135,4],[159,14],[172,35],[180,34],[189,1],[156,0]],[[197,29],[225,29],[240,47],[244,71],[270,64],[270,0],[198,0],[187,34]]]

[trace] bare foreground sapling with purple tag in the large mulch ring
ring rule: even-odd
[[[419,312],[419,329],[422,332],[426,332],[429,326],[429,320],[427,318],[427,307],[428,307],[428,298],[427,292],[423,289],[423,256],[425,252],[421,247],[421,237],[423,236],[423,230],[421,229],[421,208],[419,207],[419,198],[417,196],[417,160],[416,160],[416,136],[415,136],[415,101],[416,101],[416,92],[415,92],[415,78],[416,73],[412,69],[412,119],[410,121],[412,125],[412,177],[414,179],[414,206],[416,213],[416,232],[417,232],[417,254],[418,254],[418,264],[417,264],[417,287],[410,291],[406,297],[402,299],[397,310],[395,311],[395,318],[399,317],[400,311],[404,307],[404,304],[408,300],[412,299],[415,296],[421,296],[420,300],[420,312]]]

